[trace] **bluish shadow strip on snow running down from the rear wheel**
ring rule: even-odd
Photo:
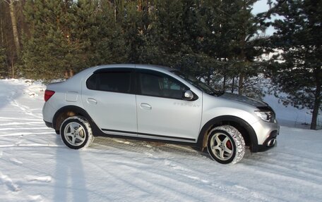
[[[60,135],[56,144],[64,145]],[[54,201],[88,201],[82,151],[67,146],[56,148]]]

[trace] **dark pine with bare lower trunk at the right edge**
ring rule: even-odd
[[[321,111],[322,88],[322,1],[277,1],[272,13],[280,15],[271,37],[275,48],[282,51],[273,58],[273,81],[285,104],[312,110],[311,129],[316,129]]]

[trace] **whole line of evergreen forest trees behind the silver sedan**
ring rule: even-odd
[[[268,1],[269,11],[254,15],[256,2],[0,0],[0,77],[52,80],[94,65],[149,63],[257,99],[268,77],[285,104],[312,110],[315,129],[322,3]],[[261,34],[268,26],[272,36]]]

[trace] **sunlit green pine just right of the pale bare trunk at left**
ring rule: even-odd
[[[68,12],[73,1],[28,1],[25,18],[30,36],[23,39],[23,75],[32,79],[61,78],[73,70],[73,57]]]

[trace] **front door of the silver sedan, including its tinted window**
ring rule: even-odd
[[[137,70],[138,137],[196,142],[202,100],[183,100],[189,87],[165,73]]]

